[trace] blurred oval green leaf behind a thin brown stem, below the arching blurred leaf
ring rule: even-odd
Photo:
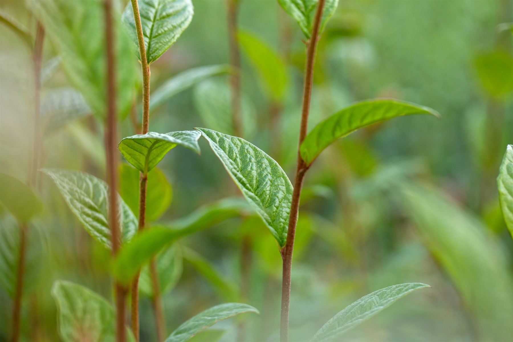
[[[174,288],[182,276],[183,259],[181,250],[177,246],[171,246],[157,254],[156,267],[159,274],[161,294],[165,295]],[[149,265],[145,265],[141,269],[139,291],[150,298],[153,297]]]

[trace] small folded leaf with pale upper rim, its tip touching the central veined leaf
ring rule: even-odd
[[[121,140],[117,146],[128,163],[137,170],[147,173],[164,158],[167,152],[177,145],[187,147],[200,154],[196,131],[176,131],[166,134],[149,132],[136,134]]]

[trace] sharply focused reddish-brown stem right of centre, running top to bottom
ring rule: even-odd
[[[321,24],[322,11],[325,0],[319,0],[317,12],[313,21],[311,38],[307,43],[305,83],[303,88],[303,108],[301,111],[301,126],[299,131],[298,162],[295,169],[294,190],[292,193],[292,203],[290,205],[290,218],[287,230],[287,241],[282,249],[283,257],[283,277],[282,277],[282,311],[280,324],[280,341],[288,341],[288,319],[290,305],[290,276],[292,270],[292,251],[294,248],[295,227],[298,224],[299,200],[301,196],[301,187],[303,179],[309,166],[306,165],[300,153],[300,146],[305,139],[308,129],[308,114],[310,112],[310,100],[313,84],[313,65],[315,61],[315,50],[319,39],[319,26]]]

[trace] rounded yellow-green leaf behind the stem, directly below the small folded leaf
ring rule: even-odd
[[[120,165],[120,195],[139,217],[139,176],[140,172],[128,164]],[[171,184],[159,168],[148,172],[146,190],[146,221],[154,222],[169,208],[172,198]]]

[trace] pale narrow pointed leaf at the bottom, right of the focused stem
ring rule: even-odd
[[[363,321],[386,309],[411,291],[429,287],[421,283],[399,284],[374,291],[358,299],[334,315],[312,338],[312,341],[329,341],[358,326]]]

